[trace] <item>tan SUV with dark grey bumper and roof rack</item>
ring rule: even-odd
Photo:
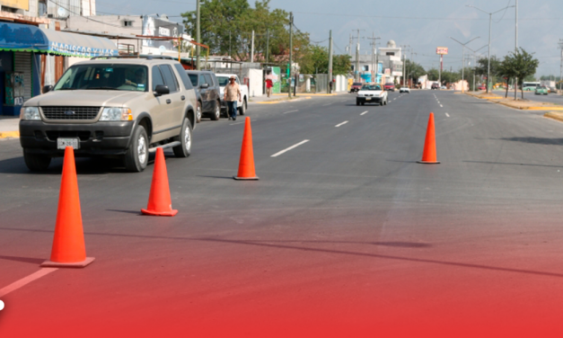
[[[67,146],[76,156],[118,156],[132,172],[143,171],[157,147],[189,156],[198,103],[177,61],[93,58],[68,68],[44,93],[25,102],[20,115],[31,171],[47,170]]]

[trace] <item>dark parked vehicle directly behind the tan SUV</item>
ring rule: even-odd
[[[216,75],[208,70],[186,70],[191,83],[198,95],[198,112],[196,120],[209,117],[211,120],[221,118],[221,96]]]

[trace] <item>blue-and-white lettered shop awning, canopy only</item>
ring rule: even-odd
[[[8,22],[0,22],[0,50],[79,58],[119,55],[116,45],[109,39]]]

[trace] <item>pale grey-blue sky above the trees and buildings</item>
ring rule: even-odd
[[[372,36],[378,47],[385,47],[394,40],[398,46],[409,46],[409,56],[426,69],[439,67],[436,47],[448,47],[444,56],[444,68],[462,67],[462,46],[453,39],[477,50],[488,53],[488,14],[467,5],[492,13],[516,0],[271,0],[270,8],[291,11],[295,26],[311,34],[311,40],[328,46],[329,31],[332,30],[337,54],[346,54],[350,34],[354,35],[353,46],[360,34],[362,54],[370,53]],[[253,0],[249,1],[253,4]],[[170,20],[181,22],[180,13],[193,11],[195,0],[96,0],[98,14],[153,14],[166,13]],[[559,39],[563,38],[563,1],[520,0],[518,1],[518,46],[533,52],[540,60],[537,76],[559,76],[561,50]],[[507,8],[492,15],[491,55],[504,58],[515,49],[515,8]],[[482,48],[482,49],[481,49]],[[353,47],[354,49],[354,47]],[[469,49],[466,55],[472,54]],[[471,57],[472,58],[472,57]],[[466,67],[472,59],[466,60]]]

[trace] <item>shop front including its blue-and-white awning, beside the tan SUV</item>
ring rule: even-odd
[[[18,115],[23,102],[39,95],[40,55],[93,58],[117,56],[108,39],[0,22],[0,115]]]

